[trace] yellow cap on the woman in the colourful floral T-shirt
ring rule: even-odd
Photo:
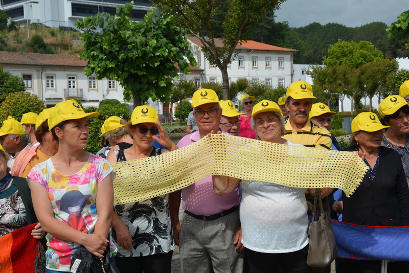
[[[86,113],[75,100],[62,101],[57,103],[50,112],[48,127],[51,130],[56,125],[66,120],[77,120],[98,115],[100,115],[99,112]]]

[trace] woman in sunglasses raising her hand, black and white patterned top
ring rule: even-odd
[[[135,160],[168,152],[154,148],[154,140],[169,148],[177,149],[157,122],[156,110],[150,106],[136,107],[127,123],[133,139],[131,147],[113,149],[109,163]],[[160,133],[161,138],[156,137]],[[115,257],[121,273],[171,272],[175,243],[169,214],[168,194],[148,200],[116,205],[112,213],[112,238],[118,247]]]

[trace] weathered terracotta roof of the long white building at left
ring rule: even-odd
[[[0,63],[2,64],[31,64],[31,65],[55,65],[55,66],[85,66],[86,61],[78,56],[37,54],[24,52],[0,51]]]

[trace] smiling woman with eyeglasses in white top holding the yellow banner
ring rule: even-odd
[[[282,138],[284,118],[277,103],[262,100],[252,112],[251,125],[261,141],[293,144]],[[278,174],[281,175],[281,174]],[[243,190],[240,222],[244,259],[250,272],[308,272],[307,189],[290,188],[261,181],[214,175],[213,189],[218,195],[233,191],[238,183]],[[321,190],[325,197],[333,189]],[[314,194],[314,189],[309,189]]]

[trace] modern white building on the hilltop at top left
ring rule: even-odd
[[[1,0],[0,8],[6,11],[11,20],[25,25],[33,22],[42,23],[48,27],[74,27],[79,18],[95,15],[98,12],[116,13],[118,5],[128,3],[128,0]],[[142,20],[147,10],[152,6],[149,0],[133,0],[130,17]]]

